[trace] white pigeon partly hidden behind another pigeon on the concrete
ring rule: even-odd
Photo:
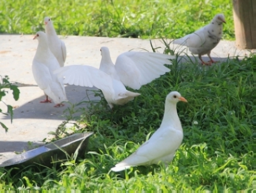
[[[46,26],[46,35],[48,39],[48,46],[50,51],[57,58],[60,67],[64,66],[64,62],[66,60],[66,46],[65,43],[59,39],[54,27],[53,23],[49,17],[44,18],[44,24]]]

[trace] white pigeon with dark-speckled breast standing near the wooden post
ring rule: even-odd
[[[210,52],[222,38],[223,23],[226,23],[224,15],[217,14],[208,25],[183,38],[174,40],[174,44],[186,45],[192,54],[198,54],[203,65],[211,65],[215,61],[210,57]],[[202,60],[204,54],[208,55],[209,62]]]

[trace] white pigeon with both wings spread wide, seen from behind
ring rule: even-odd
[[[126,52],[117,57],[116,65],[110,58],[107,47],[101,48],[100,70],[91,66],[72,65],[59,68],[54,71],[59,77],[64,77],[64,83],[84,87],[97,87],[110,106],[124,105],[139,93],[131,92],[125,86],[139,89],[169,72],[164,64],[171,64],[174,56],[149,52]]]

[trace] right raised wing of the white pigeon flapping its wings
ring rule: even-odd
[[[117,57],[115,68],[125,86],[139,89],[142,85],[169,72],[164,64],[172,64],[174,56],[152,52],[125,52]]]

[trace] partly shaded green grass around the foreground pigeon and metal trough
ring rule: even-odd
[[[143,86],[142,94],[111,111],[105,101],[91,103],[78,118],[76,133],[94,131],[86,159],[63,161],[60,168],[0,169],[0,189],[55,190],[242,190],[252,188],[253,58],[228,59],[204,67],[169,66],[171,71]],[[111,167],[133,153],[160,126],[166,95],[180,92],[184,138],[174,160],[118,173]],[[102,96],[102,94],[100,93]],[[94,105],[93,105],[94,104]],[[72,112],[74,109],[67,109]],[[69,116],[68,119],[74,117]],[[198,122],[198,124],[195,124]],[[64,125],[57,131],[70,130]],[[65,135],[64,135],[65,136]],[[14,172],[14,173],[11,173]]]

